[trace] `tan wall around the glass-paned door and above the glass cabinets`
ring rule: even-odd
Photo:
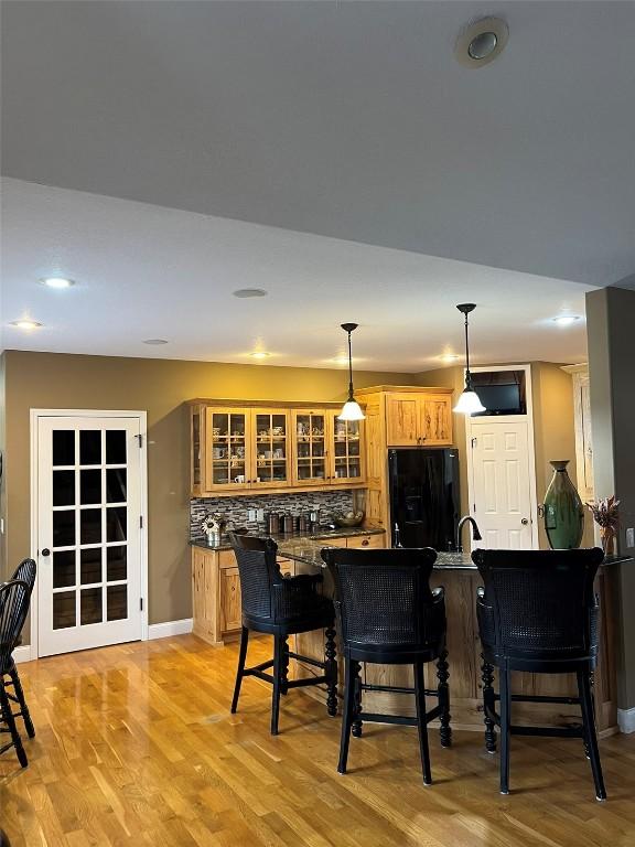
[[[148,411],[149,619],[189,618],[189,429],[183,401],[193,397],[342,400],[343,369],[230,365],[8,351],[8,568],[30,555],[29,410]],[[412,384],[412,374],[359,372],[359,387]]]

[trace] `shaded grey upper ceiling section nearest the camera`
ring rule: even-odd
[[[453,56],[459,30],[489,13],[507,20],[507,47],[466,69]],[[2,168],[47,185],[613,285],[635,271],[634,44],[635,3],[607,0],[8,2]],[[244,260],[256,267],[257,253]],[[402,272],[397,262],[395,278]],[[351,282],[334,277],[338,290]],[[303,291],[301,302],[310,298]],[[323,305],[318,315],[332,323]],[[207,350],[203,339],[192,344]]]

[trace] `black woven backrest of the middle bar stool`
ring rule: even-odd
[[[444,634],[444,607],[431,613],[435,550],[325,548],[322,558],[335,582],[345,644],[416,648]]]

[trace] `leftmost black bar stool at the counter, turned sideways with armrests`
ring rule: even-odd
[[[243,629],[236,686],[232,711],[238,707],[240,685],[245,676],[256,676],[273,686],[271,699],[271,735],[278,735],[280,695],[291,688],[308,685],[327,687],[326,708],[331,716],[337,714],[337,663],[335,661],[335,610],[329,598],[315,590],[322,575],[283,577],[276,554],[278,546],[271,538],[255,538],[230,533],[229,539],[240,575],[243,599]],[[289,650],[288,637],[300,632],[325,630],[325,660],[302,656]],[[249,632],[273,635],[273,658],[255,667],[246,668]],[[324,673],[303,679],[288,679],[289,660],[295,658],[313,665]],[[272,673],[267,673],[272,668]]]

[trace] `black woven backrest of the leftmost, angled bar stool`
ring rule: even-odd
[[[255,618],[273,619],[271,590],[282,579],[276,559],[278,545],[271,538],[238,533],[228,535],[238,564],[243,612]]]

